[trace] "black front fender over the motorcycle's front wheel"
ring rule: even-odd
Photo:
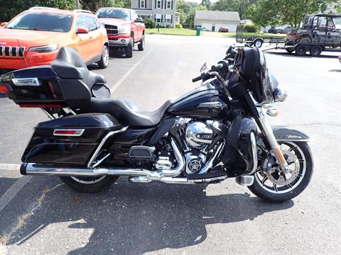
[[[305,133],[294,128],[290,128],[288,126],[273,126],[272,130],[278,142],[308,142],[310,140],[310,137],[308,135],[305,135]]]

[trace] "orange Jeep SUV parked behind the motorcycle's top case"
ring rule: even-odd
[[[1,23],[0,69],[51,64],[64,45],[87,64],[109,64],[107,31],[90,11],[33,7]]]

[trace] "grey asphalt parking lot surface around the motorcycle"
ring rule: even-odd
[[[203,62],[224,57],[232,39],[149,35],[132,59],[112,55],[113,97],[148,110],[198,84]],[[276,125],[312,137],[310,186],[287,203],[265,203],[234,180],[209,186],[132,184],[76,193],[55,177],[21,176],[21,154],[39,109],[0,97],[0,254],[340,254],[341,63],[335,54],[296,57],[266,52],[289,91]],[[6,245],[4,245],[6,243]]]

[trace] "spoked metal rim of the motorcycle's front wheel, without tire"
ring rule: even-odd
[[[289,193],[301,183],[305,176],[307,162],[302,149],[294,142],[283,142],[281,150],[288,162],[287,174],[283,174],[277,165],[272,166],[269,171],[258,171],[254,174],[255,181],[270,193]]]

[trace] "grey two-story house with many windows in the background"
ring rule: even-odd
[[[131,8],[141,18],[151,18],[160,26],[180,22],[180,13],[175,12],[175,0],[131,0]]]

